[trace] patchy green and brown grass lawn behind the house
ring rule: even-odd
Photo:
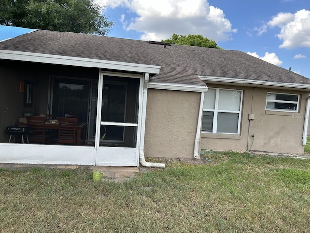
[[[95,183],[88,169],[0,169],[0,232],[310,232],[310,159],[203,157],[123,183]]]

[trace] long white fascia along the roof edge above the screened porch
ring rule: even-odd
[[[43,54],[43,53],[11,51],[11,50],[0,50],[0,59],[78,66],[78,67],[93,67],[93,68],[143,72],[152,74],[159,74],[161,68],[160,66],[147,65],[147,64],[117,62],[117,61],[99,60],[91,58],[80,58],[71,56]]]

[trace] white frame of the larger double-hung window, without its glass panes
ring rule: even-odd
[[[217,115],[218,113],[238,113],[238,130],[237,133],[218,133],[218,134],[234,134],[234,135],[240,135],[240,126],[241,126],[241,112],[242,112],[242,102],[243,102],[243,90],[237,90],[237,89],[224,89],[224,88],[210,88],[210,89],[215,89],[216,90],[216,95],[215,95],[215,105],[214,109],[205,109],[203,108],[203,112],[213,112],[213,126],[212,126],[212,132],[210,131],[203,131],[202,133],[217,133]],[[218,110],[218,100],[219,100],[219,92],[220,90],[228,90],[228,91],[240,91],[241,96],[240,96],[240,108],[239,111],[233,111],[233,110]]]

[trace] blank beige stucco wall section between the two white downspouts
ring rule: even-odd
[[[148,89],[146,157],[193,157],[201,93]]]

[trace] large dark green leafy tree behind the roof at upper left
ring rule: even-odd
[[[95,0],[0,0],[0,24],[106,35],[114,25]]]

